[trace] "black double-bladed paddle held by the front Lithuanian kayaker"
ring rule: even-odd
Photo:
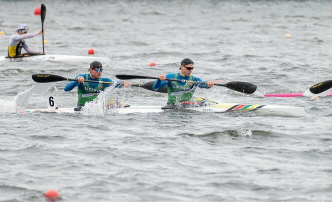
[[[151,79],[159,79],[158,77],[152,77],[152,76],[143,76],[143,75],[127,75],[127,74],[117,74],[115,75],[118,79],[133,79],[133,78],[151,78]],[[180,79],[173,79],[173,78],[166,78],[166,80],[173,80],[173,81],[180,81],[180,82],[190,82],[190,83],[205,83],[207,82],[201,82],[201,81],[193,81],[193,80],[180,80]],[[238,91],[238,92],[244,92],[247,94],[254,93],[257,89],[257,86],[252,83],[242,82],[242,81],[231,81],[225,84],[221,83],[215,83],[214,85],[224,86],[229,89]]]

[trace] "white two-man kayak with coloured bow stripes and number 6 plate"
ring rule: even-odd
[[[280,115],[280,116],[305,116],[304,108],[298,106],[282,106],[282,105],[264,105],[264,104],[234,104],[234,103],[217,103],[205,106],[188,107],[186,109],[201,111],[201,112],[231,112],[231,111],[254,111],[259,115]],[[84,107],[83,107],[84,110]],[[116,113],[159,113],[169,110],[177,110],[171,108],[163,108],[162,105],[130,105],[126,107],[112,108]],[[21,113],[27,112],[63,112],[74,113],[74,107],[67,108],[39,108],[39,109],[25,109]]]

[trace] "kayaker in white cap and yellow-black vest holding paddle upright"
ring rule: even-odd
[[[16,29],[17,33],[11,36],[8,45],[8,56],[18,57],[18,56],[29,56],[31,54],[44,54],[43,51],[36,51],[30,48],[27,42],[24,40],[26,38],[31,38],[39,34],[44,34],[42,30],[39,32],[28,33],[28,26],[26,24],[20,24]],[[21,49],[24,48],[27,52],[21,53]]]

